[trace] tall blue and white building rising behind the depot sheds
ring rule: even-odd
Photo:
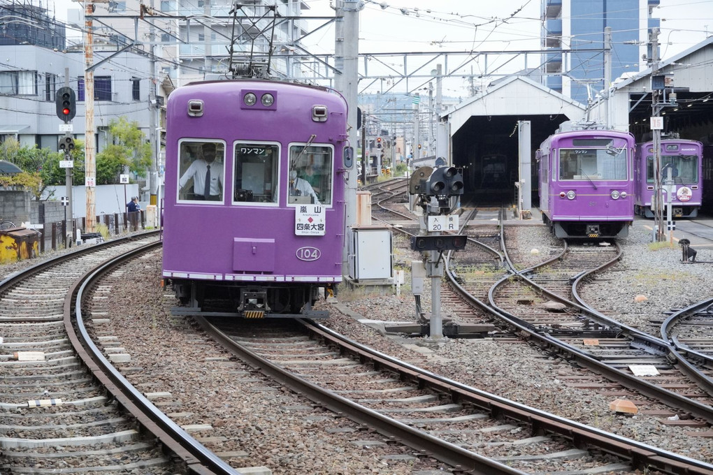
[[[542,0],[544,84],[580,103],[608,88],[605,30],[611,28],[610,82],[647,68],[644,58],[660,0]],[[562,51],[571,51],[563,53]]]

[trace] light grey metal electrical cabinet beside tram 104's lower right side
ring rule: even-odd
[[[391,229],[363,226],[349,229],[349,278],[354,281],[391,279]]]

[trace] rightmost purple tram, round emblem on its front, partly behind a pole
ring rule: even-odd
[[[636,177],[635,212],[647,218],[654,217],[651,210],[654,196],[654,142],[636,146],[634,176]],[[670,177],[669,177],[670,170]],[[672,185],[671,204],[673,217],[698,216],[703,199],[703,144],[696,140],[661,140],[661,183]],[[668,181],[670,180],[670,182]],[[668,202],[663,195],[665,204]]]

